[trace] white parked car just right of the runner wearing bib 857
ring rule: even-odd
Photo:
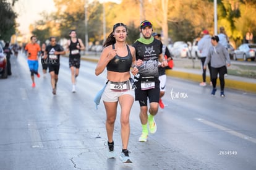
[[[171,54],[173,54],[174,57],[187,57],[189,47],[184,41],[177,41],[171,48],[169,48],[169,51]]]

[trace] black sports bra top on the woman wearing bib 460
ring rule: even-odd
[[[128,55],[125,57],[115,56],[111,61],[108,62],[107,70],[113,72],[129,72],[130,66],[132,65],[132,54],[130,54],[129,46],[127,46]],[[113,49],[114,45],[112,45]]]

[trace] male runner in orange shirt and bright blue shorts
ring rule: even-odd
[[[40,45],[36,43],[36,36],[33,35],[30,38],[31,43],[28,43],[25,46],[25,50],[28,54],[28,67],[31,72],[31,79],[32,79],[32,87],[35,87],[35,79],[34,74],[37,75],[37,77],[40,77],[40,74],[38,73],[38,52],[41,51]]]

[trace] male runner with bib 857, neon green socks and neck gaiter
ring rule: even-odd
[[[156,132],[155,116],[158,113],[158,102],[160,100],[160,81],[158,74],[158,61],[161,67],[168,66],[168,62],[162,55],[163,44],[152,36],[153,28],[151,22],[144,20],[140,23],[142,37],[135,41],[137,66],[139,74],[135,76],[135,100],[140,104],[140,122],[142,124],[142,135],[139,142],[147,142],[148,131]],[[150,107],[148,109],[148,99]],[[149,114],[148,114],[149,112]]]

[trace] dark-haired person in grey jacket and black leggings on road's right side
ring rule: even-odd
[[[212,82],[213,82],[213,90],[211,91],[211,95],[215,95],[216,93],[216,82],[219,74],[220,79],[220,96],[224,97],[224,74],[227,72],[227,67],[230,66],[230,58],[228,54],[228,50],[221,45],[219,42],[219,37],[217,35],[211,37],[211,46],[209,53],[207,55],[207,59],[205,60],[205,64],[203,68],[206,68],[208,62],[211,62],[211,73],[212,73]]]

